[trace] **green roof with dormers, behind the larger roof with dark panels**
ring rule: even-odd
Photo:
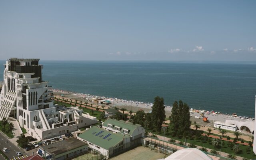
[[[110,118],[105,120],[105,122],[103,123],[103,126],[108,127],[108,124],[112,124],[113,128],[114,128],[114,126],[120,127],[121,128],[121,130],[120,130],[121,132],[122,132],[122,129],[129,130],[128,134],[130,134],[130,135],[132,135],[134,130],[140,126],[139,124],[135,124],[134,125],[132,123],[126,123],[123,120],[118,121],[118,120],[113,120],[113,119],[110,119]]]

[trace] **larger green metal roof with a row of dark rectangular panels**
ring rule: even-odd
[[[109,150],[109,148],[114,147],[122,142],[123,138],[127,137],[127,135],[112,133],[102,128],[93,126],[92,128],[86,130],[84,133],[80,134],[78,137],[91,142],[96,146]]]

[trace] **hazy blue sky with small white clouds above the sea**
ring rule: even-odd
[[[0,0],[0,59],[256,60],[255,7],[255,0]]]

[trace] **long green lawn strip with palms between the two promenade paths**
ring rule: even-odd
[[[152,130],[147,130],[147,132],[151,132],[151,133],[154,133],[154,134],[158,134],[160,136],[164,136],[163,132],[156,132],[156,131],[152,132]],[[172,137],[171,135],[166,135],[166,134],[165,134],[165,137],[185,142],[185,138]],[[211,140],[213,138],[208,137],[208,139],[210,139],[210,142],[211,142]],[[215,150],[220,151],[220,147],[214,148],[214,146],[212,146],[212,144],[209,143],[208,141],[201,141],[201,140],[197,140],[196,138],[193,138],[193,139],[187,138],[186,142],[195,144],[197,146],[203,146],[203,147],[206,147],[206,148],[215,149]],[[222,152],[226,152],[228,154],[235,154],[234,151],[228,146],[228,143],[232,143],[232,142],[227,142],[227,141],[222,140]],[[245,158],[250,158],[250,159],[256,159],[256,155],[254,154],[254,152],[252,152],[252,147],[244,146],[242,144],[238,144],[238,146],[240,147],[241,152],[238,153],[238,154],[235,154],[235,155],[245,157]],[[250,152],[246,152],[247,148],[250,148]]]

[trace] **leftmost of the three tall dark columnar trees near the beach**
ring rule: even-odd
[[[158,132],[161,131],[165,117],[164,98],[157,96],[152,107],[152,121]]]

